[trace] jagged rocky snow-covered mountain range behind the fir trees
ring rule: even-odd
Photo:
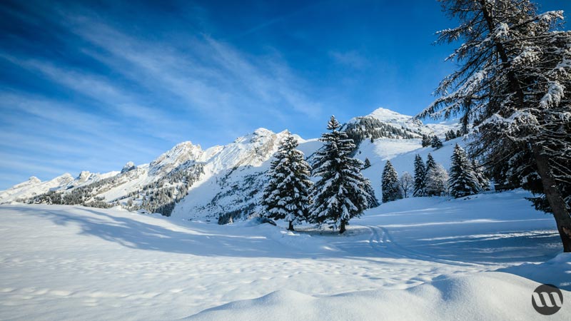
[[[369,158],[373,164],[364,173],[372,181],[378,198],[384,161],[395,158],[393,164],[397,170],[410,171],[414,153],[430,151],[420,147],[420,137],[423,134],[442,136],[452,128],[455,127],[445,123],[425,125],[412,116],[385,108],[352,118],[343,126],[359,143],[355,157]],[[226,146],[206,150],[186,141],[151,163],[136,166],[129,162],[121,170],[110,173],[84,171],[76,178],[64,174],[46,182],[32,177],[1,191],[0,203],[122,205],[129,210],[225,223],[230,217],[258,212],[265,173],[284,133],[258,128]],[[310,160],[320,148],[320,141],[296,137],[299,149]],[[445,167],[451,154],[450,143],[436,152],[437,161],[442,158]],[[410,153],[412,151],[415,152]],[[440,153],[442,157],[438,157]],[[399,161],[401,158],[403,161]]]

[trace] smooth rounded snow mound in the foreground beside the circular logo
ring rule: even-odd
[[[530,297],[539,283],[501,272],[450,277],[406,290],[314,297],[279,290],[184,320],[537,320]],[[564,302],[571,293],[564,292]],[[405,302],[405,306],[403,305]],[[570,320],[571,305],[550,320]]]

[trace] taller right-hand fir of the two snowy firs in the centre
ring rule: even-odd
[[[313,176],[319,180],[311,189],[310,218],[314,223],[339,226],[339,233],[344,233],[349,220],[371,206],[374,195],[369,180],[360,173],[363,163],[350,157],[355,149],[353,140],[339,128],[340,123],[331,116],[330,132],[320,138],[323,148],[315,152]]]

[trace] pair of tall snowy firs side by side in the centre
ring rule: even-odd
[[[270,180],[264,188],[262,205],[268,218],[287,220],[290,230],[293,223],[305,221],[332,225],[344,233],[351,218],[378,205],[370,181],[360,172],[363,162],[351,157],[355,143],[340,128],[331,116],[328,132],[320,138],[323,147],[315,152],[313,167],[295,149],[295,138],[286,133],[271,162]],[[310,175],[316,179],[314,184]]]

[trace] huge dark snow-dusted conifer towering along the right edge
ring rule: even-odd
[[[571,31],[562,11],[537,12],[530,0],[442,0],[459,26],[440,31],[459,41],[439,96],[420,117],[460,116],[472,123],[470,151],[500,183],[541,195],[571,252]]]

